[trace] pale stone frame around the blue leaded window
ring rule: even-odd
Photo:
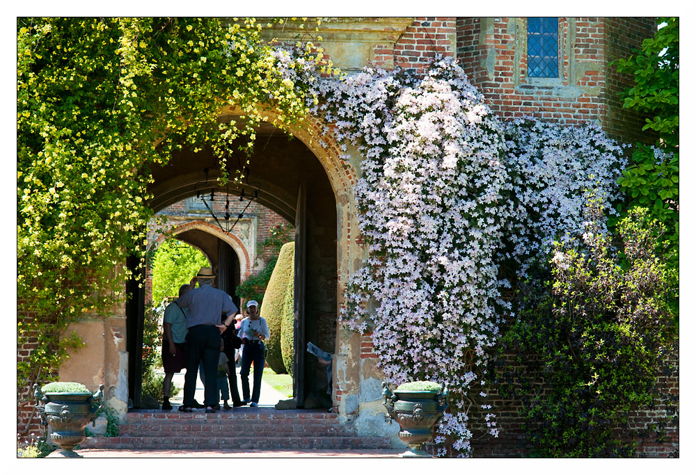
[[[516,19],[515,31],[513,79],[516,88],[523,85],[539,88],[575,86],[577,82],[574,49],[576,32],[575,17],[558,17],[558,77],[527,76],[527,67],[522,67],[522,58],[527,57],[527,17],[518,17]]]

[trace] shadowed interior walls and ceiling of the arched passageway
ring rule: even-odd
[[[258,202],[276,211],[296,227],[296,322],[295,322],[295,396],[299,407],[303,407],[307,397],[326,394],[326,369],[316,358],[305,357],[306,342],[312,341],[320,348],[335,353],[337,347],[336,318],[339,306],[338,297],[338,216],[335,176],[338,170],[326,168],[322,157],[316,150],[306,145],[310,142],[317,147],[318,140],[307,139],[311,131],[303,131],[305,140],[289,138],[270,125],[264,125],[257,132],[255,152],[248,162],[248,179],[242,184],[230,182],[221,187],[216,181],[217,159],[203,150],[193,153],[183,150],[174,154],[167,166],[152,170],[154,183],[151,193],[154,196],[150,206],[163,209],[170,204],[196,196],[196,193],[230,193],[242,195],[258,189]],[[326,152],[322,152],[324,161]],[[335,155],[335,154],[333,154]],[[334,157],[335,158],[335,157]],[[241,161],[240,161],[241,162]],[[236,159],[229,160],[230,172],[234,174]],[[242,164],[243,165],[243,164]],[[333,173],[333,177],[331,176]],[[344,186],[345,188],[345,186]],[[220,233],[224,234],[224,233]],[[204,250],[209,257],[217,253],[219,266],[235,269],[244,268],[244,257],[235,252],[233,243],[225,242],[226,236],[214,236],[212,229],[204,225],[192,226],[177,235],[187,243]],[[229,239],[228,239],[229,241]],[[215,248],[215,244],[218,246]],[[237,259],[235,263],[235,258]],[[211,259],[212,261],[213,259]],[[134,262],[129,263],[131,265]],[[235,274],[236,273],[236,274]],[[220,282],[220,287],[230,295],[236,284],[239,271],[223,273],[228,282]],[[298,280],[299,279],[299,280]],[[299,284],[298,284],[299,282]],[[134,360],[141,345],[142,308],[144,297],[142,289],[131,286],[134,292],[127,306],[128,351]],[[139,341],[140,340],[140,341]],[[139,371],[135,362],[129,369],[129,396],[136,401],[136,378]]]

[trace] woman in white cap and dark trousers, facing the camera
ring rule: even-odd
[[[251,405],[256,408],[259,405],[259,396],[261,395],[261,378],[263,376],[263,368],[266,364],[266,346],[264,340],[271,336],[268,331],[268,323],[266,319],[258,313],[258,302],[249,300],[246,303],[246,311],[249,316],[242,320],[242,325],[239,327],[237,336],[244,341],[244,351],[242,351],[242,370],[239,371],[239,376],[242,377],[242,397],[243,404]],[[254,388],[249,396],[249,371],[251,363],[254,364]]]

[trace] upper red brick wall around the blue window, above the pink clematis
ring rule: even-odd
[[[553,87],[535,85],[527,78],[522,50],[515,60],[516,45],[525,44],[522,20],[418,17],[393,49],[375,47],[372,63],[386,64],[393,54],[396,67],[422,70],[436,53],[455,55],[469,81],[502,118],[530,115],[566,124],[599,120],[613,138],[628,143],[646,140],[640,130],[642,117],[621,106],[619,92],[630,84],[628,78],[617,74],[609,63],[628,56],[644,38],[653,35],[655,18],[577,17],[573,24],[571,19],[560,17],[559,31],[564,44],[571,45],[572,55],[566,47],[559,50],[562,77]],[[517,43],[516,35],[521,35]]]

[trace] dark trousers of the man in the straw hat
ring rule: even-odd
[[[196,396],[196,373],[198,364],[203,361],[203,374],[205,385],[205,399],[203,404],[207,406],[218,403],[218,390],[216,384],[217,364],[220,359],[220,330],[215,325],[196,325],[189,328],[186,336],[186,376],[184,376],[184,406],[191,407]]]

